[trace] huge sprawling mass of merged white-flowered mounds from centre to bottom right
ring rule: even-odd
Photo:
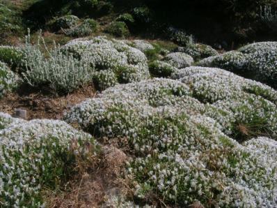
[[[146,201],[155,193],[180,207],[276,206],[277,92],[219,68],[172,77],[106,89],[65,121],[97,138],[127,138],[131,187]]]

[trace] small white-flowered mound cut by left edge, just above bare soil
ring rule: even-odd
[[[19,85],[20,78],[6,64],[0,62],[0,98]]]

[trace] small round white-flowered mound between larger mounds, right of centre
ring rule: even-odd
[[[166,55],[166,57],[164,57],[164,61],[176,68],[186,68],[187,66],[191,66],[193,64],[193,58],[188,54],[181,52]]]

